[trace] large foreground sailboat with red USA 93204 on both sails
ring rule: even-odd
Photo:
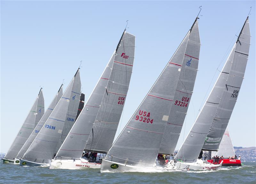
[[[172,116],[171,109],[174,111],[177,106],[179,108],[176,111],[182,114],[188,108],[196,79],[199,51],[197,17],[171,60],[102,160],[101,172],[164,172],[188,169],[175,166],[173,160],[160,164],[156,157],[167,123],[183,123],[173,121],[175,117]]]

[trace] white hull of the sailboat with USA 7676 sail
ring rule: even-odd
[[[218,165],[215,164],[211,164],[207,161],[203,161],[201,159],[197,159],[196,162],[177,162],[180,164],[181,167],[185,167],[185,166],[189,166],[189,169],[193,169],[193,170],[215,170],[218,167],[220,167],[222,165],[222,162]]]

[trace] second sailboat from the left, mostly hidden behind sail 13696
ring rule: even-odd
[[[18,152],[17,156],[15,157],[14,164],[19,164],[20,165],[20,159],[23,157],[24,153],[28,150],[28,147],[31,145],[32,141],[35,139],[36,135],[39,133],[39,131],[43,127],[45,121],[48,119],[48,117],[52,113],[53,108],[56,106],[56,104],[60,100],[60,98],[63,94],[62,87],[63,87],[63,85],[61,84],[60,89],[58,90],[57,94],[54,96],[50,106],[47,108],[44,115],[42,116],[42,118],[40,119],[38,124],[36,125],[35,129],[33,130],[33,132],[28,137],[28,140],[22,146],[22,148]]]

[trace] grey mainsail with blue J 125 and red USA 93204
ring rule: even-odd
[[[200,52],[198,22],[195,20],[190,31],[184,61],[171,106],[169,120],[165,127],[159,153],[173,154],[185,120],[195,85]]]

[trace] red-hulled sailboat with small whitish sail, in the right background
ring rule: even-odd
[[[231,141],[231,137],[230,137],[230,133],[228,130],[228,127],[220,141],[220,146],[219,146],[219,150],[218,151],[210,151],[212,157],[213,156],[223,156],[223,159],[220,159],[219,162],[214,162],[213,159],[207,160],[210,163],[213,164],[219,164],[221,162],[221,160],[223,160],[222,166],[242,166],[241,164],[241,160],[239,159],[233,159],[230,158],[234,155],[236,155],[232,141]]]

